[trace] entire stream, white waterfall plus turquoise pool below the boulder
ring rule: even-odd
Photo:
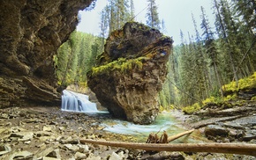
[[[76,93],[73,91],[64,91],[62,96],[62,110],[72,111],[79,113],[87,113],[91,116],[109,116],[108,112],[98,111],[96,104],[88,100],[87,95]],[[156,120],[150,125],[138,125],[125,120],[117,120],[109,118],[103,120],[101,126],[103,130],[113,134],[120,135],[132,135],[138,142],[146,142],[147,136],[150,133],[158,133],[158,136],[162,135],[165,130],[167,134],[177,135],[184,132],[186,129],[182,126],[181,120],[177,120],[175,113],[159,113]],[[202,137],[198,131],[193,132],[191,135],[185,135],[175,141],[180,142],[206,142],[207,139]]]

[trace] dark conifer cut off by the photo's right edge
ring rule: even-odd
[[[239,62],[239,66],[244,65],[243,69],[246,76],[251,75],[255,71],[256,56],[255,43],[256,43],[256,2],[254,0],[232,0],[234,11],[238,19],[238,34],[239,47],[243,58]]]

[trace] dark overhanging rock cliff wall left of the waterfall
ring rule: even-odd
[[[0,1],[0,107],[59,102],[52,57],[92,2]]]

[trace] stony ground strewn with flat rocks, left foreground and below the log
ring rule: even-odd
[[[137,142],[128,135],[109,134],[101,122],[111,117],[62,112],[59,107],[11,107],[0,110],[0,159],[253,159],[254,156],[183,152],[145,152],[82,144],[82,138]],[[178,115],[182,117],[182,115]],[[186,116],[187,117],[187,116]],[[188,120],[184,119],[184,120]]]

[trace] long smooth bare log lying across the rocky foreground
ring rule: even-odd
[[[107,142],[100,140],[81,139],[81,143],[93,143],[111,147],[128,149],[143,149],[154,151],[184,151],[226,153],[256,156],[256,144],[245,143],[137,143],[137,142]]]

